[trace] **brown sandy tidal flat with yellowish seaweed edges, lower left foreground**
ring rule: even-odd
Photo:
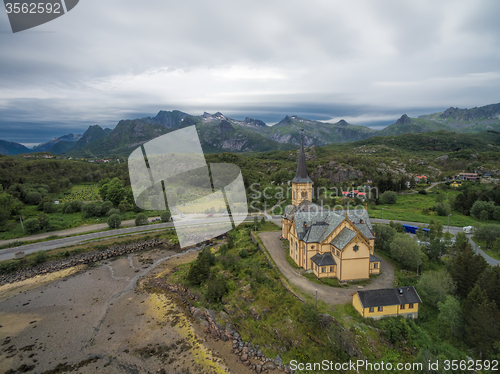
[[[196,254],[154,249],[1,286],[0,373],[250,373],[175,296],[141,287]]]

